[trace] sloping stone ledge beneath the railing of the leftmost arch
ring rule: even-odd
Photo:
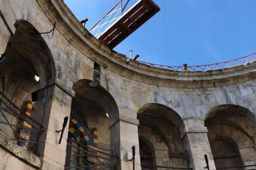
[[[42,167],[41,158],[28,151],[26,148],[11,142],[2,131],[0,131],[0,147],[32,167],[37,169]]]

